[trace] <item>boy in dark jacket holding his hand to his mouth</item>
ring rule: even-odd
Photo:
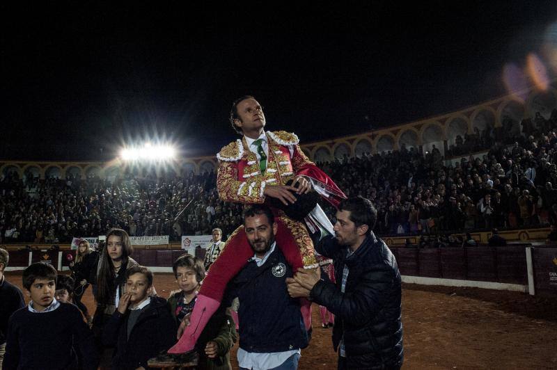
[[[113,369],[147,369],[147,362],[174,342],[177,325],[164,298],[149,296],[152,272],[132,266],[125,274],[125,293],[102,332],[105,345],[116,346]]]

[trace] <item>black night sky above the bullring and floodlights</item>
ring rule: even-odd
[[[557,1],[313,3],[2,5],[0,159],[107,160],[141,138],[214,154],[246,94],[304,143],[455,111],[505,95],[505,64],[545,61],[557,21]]]

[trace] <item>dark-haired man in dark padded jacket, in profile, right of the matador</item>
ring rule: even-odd
[[[336,284],[320,269],[299,270],[288,279],[292,297],[311,297],[336,315],[333,345],[338,369],[400,369],[401,282],[395,257],[371,231],[377,211],[366,198],[340,202],[336,237],[324,236],[315,248],[334,259]]]

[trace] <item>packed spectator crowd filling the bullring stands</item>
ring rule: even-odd
[[[512,229],[557,223],[557,111],[545,120],[523,120],[522,135],[511,122],[465,139],[446,153],[463,156],[455,165],[434,145],[363,154],[317,163],[348,196],[363,195],[378,211],[378,234],[437,234],[459,230]],[[512,140],[512,141],[511,141]],[[469,155],[483,150],[487,154]],[[324,207],[327,205],[324,204]],[[223,235],[241,223],[241,205],[219,200],[216,175],[131,174],[116,182],[99,177],[24,181],[0,179],[0,242],[68,243],[112,227],[130,236]],[[331,218],[334,210],[326,208]]]

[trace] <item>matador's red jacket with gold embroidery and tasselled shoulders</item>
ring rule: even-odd
[[[265,186],[283,185],[297,175],[309,177],[318,193],[334,206],[346,195],[301,151],[299,139],[286,131],[267,131],[267,169],[260,172],[256,154],[245,138],[226,145],[217,154],[217,190],[226,202],[265,202]]]

